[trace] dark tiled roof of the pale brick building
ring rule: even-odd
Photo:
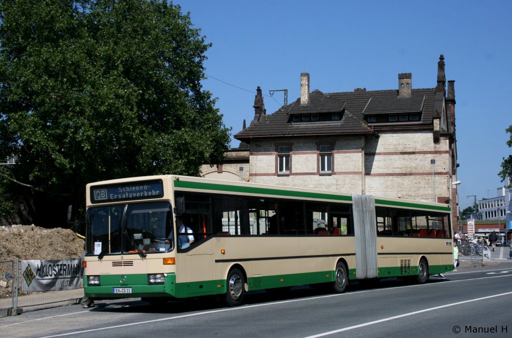
[[[421,121],[415,126],[432,125],[435,108],[435,88],[413,89],[410,97],[398,97],[397,90],[354,91],[327,93],[315,90],[309,94],[308,104],[301,105],[298,98],[273,114],[265,115],[234,137],[248,142],[253,137],[283,137],[308,135],[350,135],[377,132],[362,123],[368,114],[421,112]],[[293,122],[293,115],[343,112],[341,120]],[[389,127],[390,125],[387,124]],[[394,128],[408,128],[397,122]],[[410,125],[409,125],[410,126]]]

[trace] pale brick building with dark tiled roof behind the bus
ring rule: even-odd
[[[428,89],[404,73],[391,90],[310,92],[302,73],[301,97],[268,115],[258,87],[240,146],[202,175],[447,203],[457,224],[454,82],[446,88],[443,55]]]

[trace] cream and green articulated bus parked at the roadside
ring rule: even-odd
[[[453,270],[446,204],[162,175],[87,185],[84,292],[169,300]],[[183,223],[184,226],[181,224]]]

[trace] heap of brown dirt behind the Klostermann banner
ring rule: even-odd
[[[83,239],[70,229],[35,225],[0,226],[0,297],[11,292],[11,260],[60,260],[80,258]],[[16,264],[16,263],[15,263]],[[16,266],[15,266],[16,268]]]

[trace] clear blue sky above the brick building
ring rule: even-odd
[[[179,0],[212,47],[206,52],[204,89],[218,98],[232,134],[254,116],[255,90],[300,96],[300,74],[324,93],[354,88],[398,88],[412,73],[412,88],[436,86],[444,54],[455,80],[459,204],[496,197],[512,124],[512,1],[222,1]],[[267,114],[283,92],[265,96]],[[231,146],[239,141],[232,139]]]

